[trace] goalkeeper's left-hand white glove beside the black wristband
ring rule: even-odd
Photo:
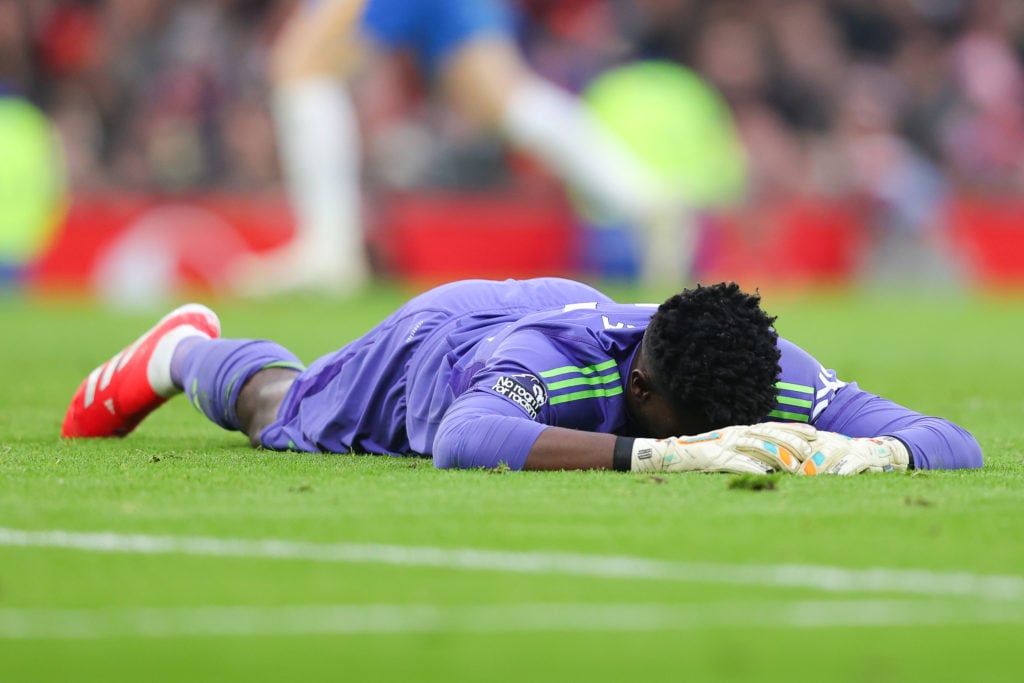
[[[814,454],[813,427],[766,422],[725,427],[695,436],[638,438],[634,472],[795,472]]]

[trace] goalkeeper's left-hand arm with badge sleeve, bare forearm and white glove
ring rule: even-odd
[[[495,342],[487,362],[472,374],[447,408],[434,434],[431,455],[440,468],[616,469],[641,471],[792,471],[808,452],[807,434],[771,424],[727,427],[672,438],[627,438],[558,426],[547,385],[536,368],[579,362],[531,331]],[[595,423],[596,424],[596,423]],[[813,430],[810,430],[813,431]],[[652,435],[656,436],[656,435]]]

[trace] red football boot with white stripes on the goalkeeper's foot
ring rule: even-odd
[[[180,389],[171,382],[171,355],[182,339],[215,338],[220,321],[212,310],[188,303],[85,378],[71,399],[60,435],[65,438],[124,436]]]

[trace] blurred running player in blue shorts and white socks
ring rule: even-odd
[[[368,278],[360,133],[346,83],[378,50],[412,49],[459,114],[541,160],[599,212],[648,232],[681,221],[681,200],[578,98],[530,70],[515,22],[502,0],[300,3],[274,43],[270,69],[297,233],[286,248],[243,264],[241,291],[344,292]]]

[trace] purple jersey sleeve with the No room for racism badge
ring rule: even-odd
[[[468,369],[465,386],[434,437],[434,466],[520,470],[547,424],[548,394],[539,368],[561,358],[537,332],[512,334],[485,359]]]

